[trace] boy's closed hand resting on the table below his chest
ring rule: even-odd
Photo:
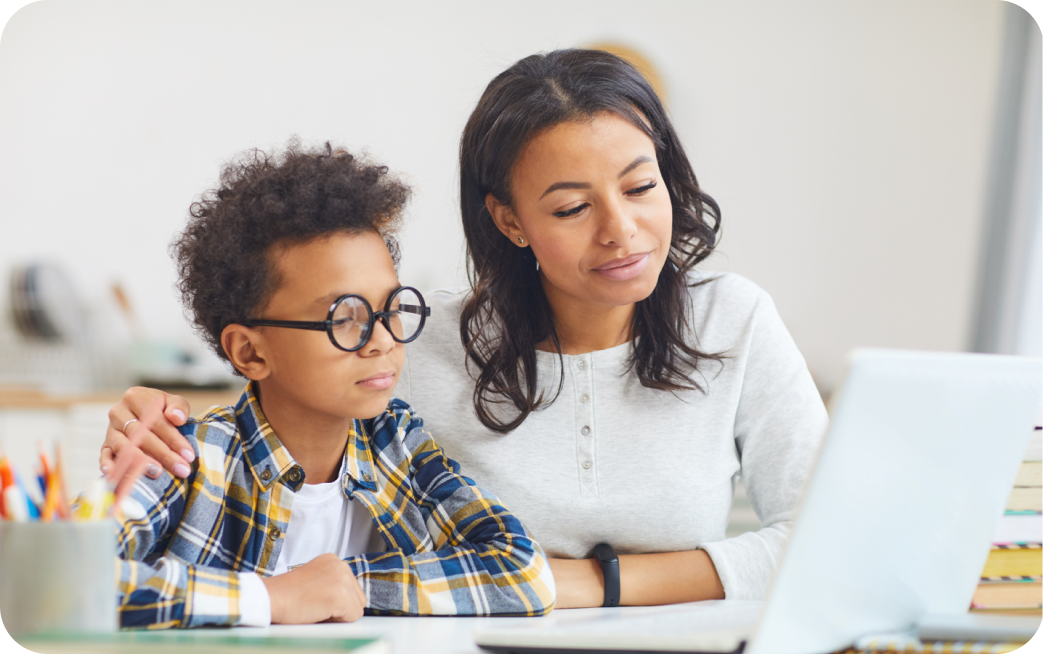
[[[284,575],[262,578],[271,601],[271,624],[354,623],[366,595],[352,568],[335,554],[317,556]]]

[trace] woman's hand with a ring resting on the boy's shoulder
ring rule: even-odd
[[[188,416],[184,397],[142,387],[129,389],[109,410],[99,465],[116,486],[117,500],[126,496],[142,474],[155,480],[166,468],[177,477],[189,475],[195,453],[177,430]]]

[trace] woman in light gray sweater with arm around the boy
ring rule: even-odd
[[[430,294],[397,393],[556,557],[557,606],[610,601],[599,543],[621,604],[761,599],[826,412],[767,295],[694,270],[719,212],[649,85],[595,50],[516,63],[465,127],[460,208],[472,288]],[[129,426],[187,472],[188,413],[128,391],[102,466]],[[762,528],[727,539],[740,473]]]

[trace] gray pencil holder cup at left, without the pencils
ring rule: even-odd
[[[116,631],[116,525],[0,522],[0,620],[11,635]]]

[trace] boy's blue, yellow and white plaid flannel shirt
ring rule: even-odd
[[[270,576],[304,471],[251,384],[234,407],[182,427],[188,478],[142,478],[121,505],[123,627],[235,625],[239,573]],[[541,615],[554,582],[540,546],[490,492],[460,474],[399,399],[349,435],[345,494],[388,551],[347,559],[367,614]]]

